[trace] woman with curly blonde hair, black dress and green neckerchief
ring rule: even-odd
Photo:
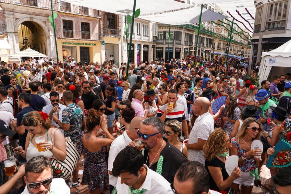
[[[213,131],[203,146],[205,168],[209,173],[209,188],[220,193],[227,193],[241,173],[239,168],[235,168],[230,176],[226,172],[225,161],[230,147],[231,139],[222,129]]]

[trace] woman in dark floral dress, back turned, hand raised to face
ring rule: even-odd
[[[105,153],[107,145],[110,145],[114,137],[106,129],[106,120],[98,117],[97,110],[91,109],[86,119],[87,131],[82,131],[77,137],[77,148],[80,153],[86,154],[83,179],[81,184],[88,185],[90,194],[99,194],[109,185]],[[103,130],[107,138],[96,137],[99,128]],[[103,135],[99,134],[98,135]]]

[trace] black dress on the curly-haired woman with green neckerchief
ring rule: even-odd
[[[219,160],[217,157],[215,157],[213,160],[211,161],[207,161],[205,160],[205,168],[209,174],[209,188],[212,190],[216,190],[219,191],[218,186],[216,185],[216,183],[214,182],[212,176],[210,175],[210,172],[208,170],[208,166],[213,166],[213,167],[219,167],[221,168],[221,173],[222,173],[222,177],[223,177],[223,181],[225,181],[228,178],[228,173],[226,172],[225,169],[225,163],[222,162],[221,160]],[[228,191],[229,188],[227,188],[224,191]]]

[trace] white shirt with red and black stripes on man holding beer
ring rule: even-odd
[[[168,106],[168,104],[164,104],[163,106],[159,106],[157,117],[161,117],[164,114],[166,106]],[[176,103],[176,107],[173,108],[173,111],[169,112],[166,115],[165,122],[168,120],[173,120],[173,119],[178,120],[180,123],[182,123],[182,120],[186,119],[185,108],[182,104]]]

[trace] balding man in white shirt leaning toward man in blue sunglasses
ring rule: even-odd
[[[109,158],[108,158],[108,173],[109,173],[109,183],[110,183],[110,193],[114,187],[116,187],[117,177],[114,177],[111,173],[113,168],[113,162],[117,154],[123,150],[131,141],[139,138],[137,136],[137,129],[141,128],[141,122],[144,120],[143,117],[134,117],[129,125],[129,129],[124,131],[121,136],[118,136],[110,146]]]

